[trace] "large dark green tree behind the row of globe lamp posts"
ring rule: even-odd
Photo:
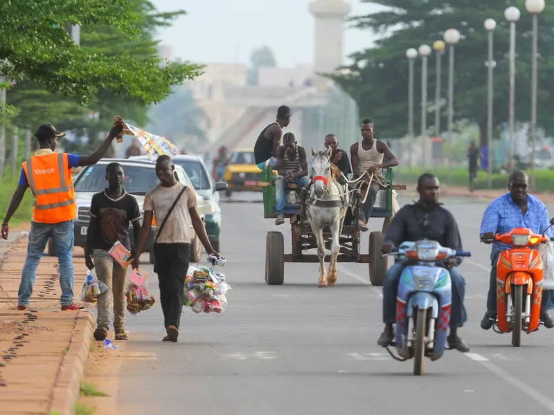
[[[470,120],[479,124],[481,145],[486,142],[487,125],[487,39],[483,28],[485,19],[492,17],[499,26],[494,31],[494,126],[499,127],[508,120],[508,50],[509,30],[503,11],[508,6],[521,10],[517,23],[517,78],[515,89],[515,118],[517,122],[530,119],[530,63],[531,63],[531,19],[524,8],[524,0],[362,0],[386,6],[388,10],[371,15],[355,17],[355,26],[372,30],[382,35],[375,48],[354,53],[354,63],[348,66],[350,73],[332,76],[359,106],[361,116],[371,116],[377,128],[386,131],[387,136],[402,136],[406,133],[408,109],[408,62],[406,49],[418,48],[420,44],[431,46],[442,39],[448,28],[456,28],[462,34],[456,45],[454,118]],[[552,102],[554,80],[554,9],[546,8],[539,15],[539,95],[538,123],[546,131],[554,129]],[[385,35],[388,31],[390,35]],[[445,54],[447,56],[447,53]],[[447,59],[443,59],[443,68]],[[420,59],[416,60],[415,71],[415,131],[420,131]],[[447,71],[443,72],[443,98],[447,98]],[[434,56],[429,59],[429,107],[434,105],[435,71]],[[442,117],[446,116],[443,107]],[[445,119],[441,125],[445,126]]]

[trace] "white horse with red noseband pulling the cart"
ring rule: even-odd
[[[333,174],[328,151],[316,151],[312,147],[312,188],[307,199],[307,217],[317,240],[317,256],[319,257],[319,287],[334,286],[337,282],[337,257],[341,248],[339,236],[342,232],[344,215],[348,208],[348,194],[337,181],[338,170]],[[328,225],[331,230],[331,261],[328,273],[325,273],[325,239],[323,227]]]

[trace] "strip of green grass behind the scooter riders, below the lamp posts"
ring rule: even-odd
[[[422,169],[420,167],[414,167],[409,172],[408,167],[397,167],[395,169],[395,183],[413,185],[417,183],[418,176],[425,172],[435,174],[440,180],[440,184],[446,186],[448,184],[448,169],[446,167],[439,167],[438,169]],[[530,174],[530,171],[527,171]],[[537,191],[538,192],[552,192],[554,190],[554,170],[536,170],[535,177],[537,179]],[[452,185],[459,187],[467,187],[469,183],[469,174],[466,168],[452,169]],[[477,180],[475,183],[476,190],[488,189],[488,174],[480,170],[477,173]],[[492,188],[493,189],[506,189],[508,191],[508,174],[492,174]]]

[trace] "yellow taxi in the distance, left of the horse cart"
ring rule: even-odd
[[[261,192],[261,180],[262,172],[255,164],[254,150],[233,151],[223,174],[223,181],[229,186],[226,196],[231,196],[232,192]]]

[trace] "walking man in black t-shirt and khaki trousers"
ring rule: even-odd
[[[141,211],[136,199],[121,187],[124,178],[123,167],[119,163],[109,163],[106,166],[108,187],[103,192],[94,194],[91,201],[91,220],[84,260],[87,268],[96,268],[96,277],[108,286],[108,291],[98,297],[98,326],[94,331],[94,338],[98,341],[107,337],[110,289],[114,296],[115,339],[127,340],[124,329],[127,269],[108,252],[117,241],[131,251],[127,234],[129,222],[133,224],[135,243],[139,241]]]

